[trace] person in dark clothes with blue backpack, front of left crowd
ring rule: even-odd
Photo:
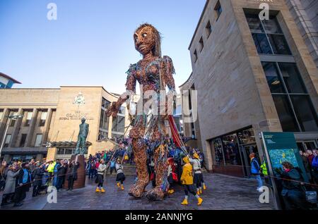
[[[14,194],[14,207],[22,206],[23,204],[21,201],[25,198],[26,192],[29,191],[31,185],[31,173],[28,168],[28,163],[21,163],[21,168],[18,171],[17,177],[17,185],[16,185],[16,192]]]

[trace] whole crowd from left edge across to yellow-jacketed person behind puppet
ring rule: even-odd
[[[175,146],[172,139],[167,137],[167,179],[170,183],[168,189],[169,194],[175,192],[174,186],[176,183],[184,185],[184,201],[182,204],[187,204],[188,194],[193,194],[198,199],[198,204],[202,203],[199,196],[202,194],[202,189],[206,189],[204,178],[201,172],[204,166],[204,154],[198,149],[189,149],[187,153]],[[116,149],[98,151],[94,156],[89,155],[85,166],[88,179],[95,178],[97,187],[95,192],[105,192],[103,182],[107,170],[110,174],[116,173],[116,185],[119,189],[124,190],[124,166],[127,163],[134,163],[134,154],[131,149],[131,139],[122,138],[115,139],[117,142]],[[158,147],[158,142],[151,142],[149,139],[144,139],[147,145],[147,167],[149,180],[155,186],[155,163],[153,151]],[[33,197],[41,193],[47,192],[47,187],[52,185],[57,191],[63,188],[72,190],[74,182],[78,179],[78,161],[70,161],[67,159],[57,159],[55,161],[35,161],[30,162],[13,161],[6,163],[3,161],[0,167],[0,190],[4,190],[1,201],[1,206],[13,204],[13,206],[21,206],[25,199],[26,192],[32,189]],[[192,175],[192,171],[194,175]],[[67,186],[65,186],[67,184]]]

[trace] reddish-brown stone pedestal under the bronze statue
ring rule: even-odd
[[[76,160],[76,156],[72,155],[71,156],[71,161],[75,161]],[[77,159],[79,166],[78,166],[78,170],[77,170],[77,180],[74,181],[74,185],[73,185],[73,189],[78,189],[78,188],[82,188],[85,187],[85,180],[86,180],[86,170],[85,170],[85,158],[82,155],[78,155],[78,159]],[[67,168],[67,173],[69,173],[69,169]],[[66,179],[64,182],[64,189],[67,189],[69,186],[69,175],[66,175]]]

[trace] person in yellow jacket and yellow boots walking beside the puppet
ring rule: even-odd
[[[184,161],[184,166],[182,168],[182,175],[181,175],[181,183],[182,185],[184,185],[184,200],[182,201],[182,205],[187,205],[188,204],[188,197],[189,197],[189,192],[191,194],[194,195],[194,197],[196,197],[196,199],[198,199],[198,205],[201,205],[203,202],[203,199],[201,199],[201,197],[199,197],[198,194],[196,194],[196,192],[194,191],[194,187],[193,187],[193,175],[192,175],[192,165],[189,161],[189,157],[185,156],[183,158]]]

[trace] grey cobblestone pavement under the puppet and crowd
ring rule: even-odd
[[[259,192],[256,190],[256,180],[245,178],[233,178],[227,175],[205,174],[204,180],[208,189],[202,194],[204,202],[201,206],[196,205],[196,199],[189,195],[189,205],[182,206],[180,203],[184,198],[183,187],[177,185],[175,194],[167,197],[164,201],[148,201],[145,197],[134,199],[128,195],[129,186],[134,182],[134,177],[126,177],[124,191],[115,186],[115,178],[107,177],[105,180],[104,194],[95,193],[95,183],[88,180],[86,187],[74,189],[71,192],[58,192],[57,204],[47,203],[47,196],[40,195],[32,198],[30,192],[23,206],[18,209],[45,209],[45,210],[271,210],[273,201],[269,197],[269,204],[259,202]],[[151,189],[148,185],[147,190]],[[12,205],[4,206],[1,209],[16,209]]]

